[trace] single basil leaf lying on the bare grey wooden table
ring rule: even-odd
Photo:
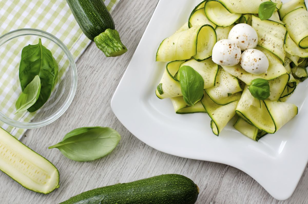
[[[121,139],[120,134],[108,127],[85,127],[75,129],[56,145],[61,153],[74,161],[93,161],[111,153]]]

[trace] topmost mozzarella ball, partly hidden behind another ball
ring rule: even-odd
[[[258,35],[253,27],[246,23],[239,23],[235,25],[228,36],[229,40],[233,40],[240,46],[241,51],[255,48],[258,44]]]

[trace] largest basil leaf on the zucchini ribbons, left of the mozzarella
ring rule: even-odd
[[[204,80],[202,76],[190,66],[183,66],[179,70],[180,86],[184,101],[193,106],[203,96]]]

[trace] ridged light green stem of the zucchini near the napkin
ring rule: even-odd
[[[96,46],[103,51],[106,57],[117,57],[127,52],[118,31],[108,28],[94,38]]]

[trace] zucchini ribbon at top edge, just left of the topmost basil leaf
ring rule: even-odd
[[[220,2],[230,13],[257,14],[259,6],[270,0],[208,0]]]

